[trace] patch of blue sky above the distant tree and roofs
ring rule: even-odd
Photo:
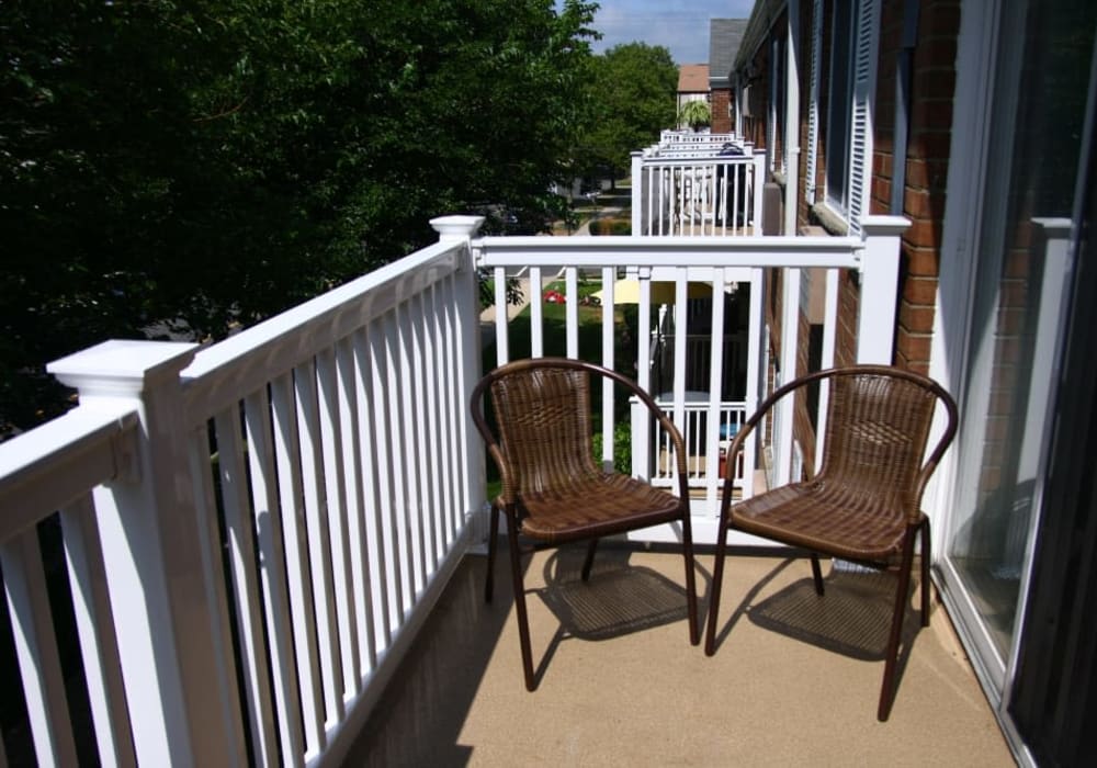
[[[557,4],[559,4],[557,0]],[[595,53],[640,41],[664,45],[677,64],[709,61],[709,20],[746,19],[754,0],[600,0]]]

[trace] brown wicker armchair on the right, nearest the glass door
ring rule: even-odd
[[[731,479],[724,484],[709,603],[704,652],[715,652],[716,617],[727,531],[735,529],[811,552],[815,590],[823,595],[818,554],[878,568],[898,566],[884,679],[877,716],[887,720],[894,699],[895,666],[914,564],[914,541],[921,533],[921,625],[929,625],[929,519],[919,505],[926,482],[957,429],[952,397],[925,376],[883,365],[819,371],[785,384],[747,420],[728,449],[734,462],[755,427],[785,395],[829,380],[822,468],[732,506]],[[937,403],[948,423],[923,464]]]

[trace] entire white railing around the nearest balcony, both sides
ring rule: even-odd
[[[886,312],[906,226],[866,219],[861,238],[473,239],[479,221],[436,219],[439,244],[220,343],[108,341],[48,366],[79,406],[0,444],[0,567],[18,659],[7,679],[22,682],[31,731],[0,744],[0,765],[26,755],[66,766],[340,764],[482,534],[484,449],[467,402],[483,366],[478,271],[496,278],[499,306],[509,276],[530,280],[538,297],[559,276],[570,357],[580,351],[578,280],[598,278],[596,359],[613,366],[615,345],[635,343],[643,386],[653,280],[674,283],[682,335],[691,282],[715,296],[749,284],[758,306],[744,402],[687,408],[685,336],[666,402],[705,458],[693,505],[705,524],[694,531],[711,541],[723,440],[701,419],[738,423],[757,402],[764,268],[858,270],[873,312]],[[621,276],[640,281],[635,338],[619,339]],[[711,305],[722,329],[724,302]],[[531,316],[538,355],[540,301]],[[828,332],[836,325],[828,318]],[[860,359],[890,359],[885,325],[862,316]],[[795,326],[784,324],[782,339],[793,349]],[[499,362],[508,334],[499,313],[489,335]],[[708,391],[717,393],[724,345],[709,350]],[[606,438],[619,415],[630,418],[613,398],[603,392]],[[633,425],[644,476],[656,462],[649,427]],[[58,597],[58,579],[70,599]],[[63,648],[78,651],[82,671]],[[70,699],[72,686],[86,696]]]

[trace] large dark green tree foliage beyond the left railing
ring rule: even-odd
[[[595,8],[4,0],[0,428],[56,413],[43,364],[90,343],[222,337],[432,216],[547,216]]]

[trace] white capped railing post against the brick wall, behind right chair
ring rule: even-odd
[[[857,319],[857,362],[890,365],[895,348],[900,238],[911,226],[903,216],[861,219],[861,298]]]

